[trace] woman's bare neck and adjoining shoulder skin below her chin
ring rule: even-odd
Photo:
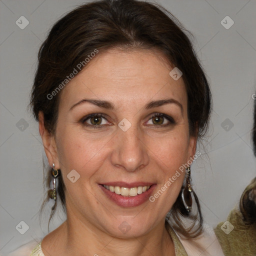
[[[97,228],[81,216],[67,212],[67,220],[52,235],[45,237],[42,250],[45,256],[53,255],[93,255],[93,256],[174,256],[174,245],[164,226],[164,219],[148,233],[127,239],[114,237]],[[47,240],[50,246],[47,247]],[[54,244],[54,245],[52,245]],[[44,252],[45,250],[45,252]],[[60,253],[61,252],[61,253]]]

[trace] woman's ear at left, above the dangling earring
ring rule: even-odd
[[[60,166],[58,161],[55,138],[54,138],[54,135],[50,133],[44,126],[44,116],[42,111],[39,111],[38,113],[38,122],[39,122],[39,133],[42,138],[42,144],[48,159],[48,163],[51,167],[52,167],[52,163],[54,163],[55,168],[59,169]]]

